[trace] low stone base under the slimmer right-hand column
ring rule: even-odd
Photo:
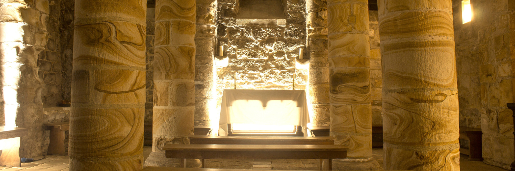
[[[382,170],[383,167],[372,158],[333,159],[333,170]]]

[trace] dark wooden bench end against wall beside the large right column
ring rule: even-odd
[[[459,153],[469,155],[470,161],[483,161],[483,132],[479,128],[459,127]]]

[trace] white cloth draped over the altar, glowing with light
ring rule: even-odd
[[[306,136],[310,115],[304,90],[225,89],[218,134],[227,135],[227,124],[300,125]]]

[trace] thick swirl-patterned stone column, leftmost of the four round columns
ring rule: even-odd
[[[143,168],[146,0],[77,0],[70,170]]]

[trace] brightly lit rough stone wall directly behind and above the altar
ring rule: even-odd
[[[237,24],[239,3],[218,2],[218,45],[224,56],[217,56],[217,106],[224,89],[305,89],[307,69],[296,69],[299,48],[305,46],[305,2],[283,1],[285,25]],[[239,11],[241,12],[241,11]],[[217,50],[218,52],[218,50]],[[307,58],[307,55],[304,55]],[[219,111],[219,110],[218,110]]]

